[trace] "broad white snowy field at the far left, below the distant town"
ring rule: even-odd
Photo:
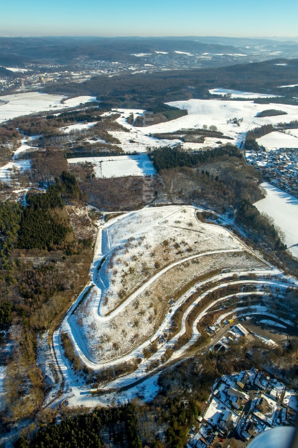
[[[77,98],[67,99],[62,104],[61,100],[64,98],[65,96],[63,95],[50,95],[42,92],[16,93],[0,96],[1,100],[8,102],[6,104],[0,104],[0,122],[21,115],[52,110],[54,106],[57,108],[69,108],[79,106],[80,103],[96,100],[94,96],[79,96]]]

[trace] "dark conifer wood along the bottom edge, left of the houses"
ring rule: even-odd
[[[90,414],[66,418],[61,423],[39,430],[33,438],[21,436],[15,448],[101,448],[104,446],[103,430],[112,429],[115,446],[141,448],[137,428],[136,409],[129,403],[117,408],[95,409]]]

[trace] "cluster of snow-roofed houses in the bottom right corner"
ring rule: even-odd
[[[293,426],[297,413],[297,393],[272,375],[255,368],[223,375],[189,434],[188,447],[227,448],[233,434],[240,437],[239,446],[246,446],[263,431]]]

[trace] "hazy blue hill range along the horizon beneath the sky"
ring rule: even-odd
[[[93,60],[137,62],[135,55],[160,53],[178,57],[179,54],[241,54],[254,55],[256,50],[298,52],[298,42],[270,39],[227,37],[1,37],[0,65],[19,66],[26,63],[73,64],[78,58]],[[160,52],[160,53],[157,53]],[[181,52],[181,53],[179,53]],[[185,56],[185,55],[184,55]],[[149,58],[150,59],[150,58]]]

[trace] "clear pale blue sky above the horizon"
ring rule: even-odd
[[[0,35],[298,35],[297,0],[2,0],[0,15]]]

